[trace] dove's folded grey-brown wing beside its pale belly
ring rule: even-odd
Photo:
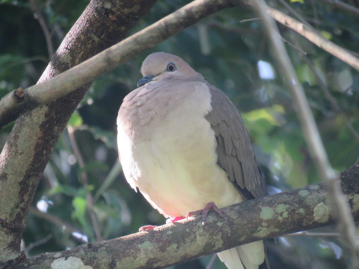
[[[241,115],[227,95],[207,85],[212,110],[205,118],[215,132],[218,164],[246,200],[268,195]]]

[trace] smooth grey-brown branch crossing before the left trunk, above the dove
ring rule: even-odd
[[[243,1],[195,0],[79,65],[24,89],[23,98],[14,96],[14,91],[10,92],[0,100],[0,128],[21,113],[71,93],[205,16],[240,4],[243,4]]]

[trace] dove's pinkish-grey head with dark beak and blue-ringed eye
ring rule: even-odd
[[[180,57],[165,52],[155,52],[147,56],[142,63],[141,73],[143,78],[139,80],[137,87],[164,79],[204,81],[204,77]]]

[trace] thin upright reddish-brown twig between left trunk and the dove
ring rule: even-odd
[[[74,129],[70,125],[67,125],[67,132],[69,133],[70,143],[73,148],[76,159],[79,163],[79,166],[81,169],[83,169],[85,167],[85,162],[82,158],[79,147],[77,146],[76,139],[74,136]],[[88,180],[87,180],[87,174],[84,170],[81,172],[81,179],[82,179],[82,184],[83,184],[84,188],[87,189],[89,184],[88,184]],[[96,214],[93,210],[94,202],[93,202],[92,193],[89,190],[86,193],[86,201],[87,201],[87,208],[89,210],[90,217],[91,217],[92,226],[95,231],[96,239],[97,239],[97,241],[102,241],[100,227],[98,225]]]

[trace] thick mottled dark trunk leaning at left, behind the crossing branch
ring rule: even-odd
[[[155,0],[92,0],[67,33],[38,82],[123,39]],[[17,119],[0,155],[0,267],[20,255],[33,195],[62,130],[90,83]]]

